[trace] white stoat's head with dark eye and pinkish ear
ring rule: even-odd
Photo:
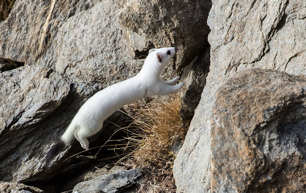
[[[169,60],[175,55],[175,48],[174,47],[162,47],[159,49],[151,49],[149,50],[149,55],[154,55],[157,62],[160,63],[161,66],[165,66]]]

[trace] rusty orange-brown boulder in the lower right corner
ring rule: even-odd
[[[218,90],[211,192],[305,192],[306,77],[247,70]]]

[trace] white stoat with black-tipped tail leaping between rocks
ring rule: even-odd
[[[68,145],[73,135],[81,146],[88,150],[87,138],[96,134],[102,128],[103,121],[123,105],[144,97],[168,95],[180,90],[184,86],[184,81],[174,85],[179,76],[170,81],[162,81],[159,78],[174,54],[174,47],[151,49],[136,76],[110,85],[90,97],[76,113],[61,141],[50,149],[46,162],[49,163],[65,145]]]

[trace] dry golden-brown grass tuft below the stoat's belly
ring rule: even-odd
[[[148,183],[141,192],[175,192],[172,173],[175,157],[171,149],[184,140],[189,124],[180,117],[181,98],[154,97],[131,104],[129,108],[134,121],[123,128],[128,137],[110,149],[121,151],[118,154],[124,156],[120,162],[147,167]]]

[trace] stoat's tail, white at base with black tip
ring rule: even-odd
[[[65,133],[62,135],[61,139],[55,143],[53,147],[49,150],[46,156],[46,166],[50,164],[50,161],[60,152],[62,149],[68,145],[73,137],[75,130],[78,127],[72,123],[70,123],[69,127],[66,129]]]

